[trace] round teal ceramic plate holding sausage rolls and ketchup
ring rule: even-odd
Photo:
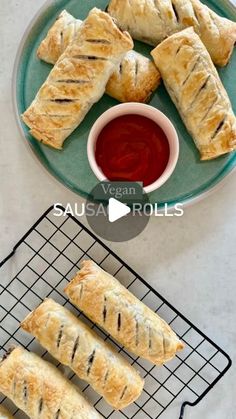
[[[54,0],[48,2],[37,14],[28,28],[19,49],[14,77],[14,101],[17,119],[25,140],[44,166],[60,182],[74,192],[87,197],[97,183],[92,173],[86,152],[87,138],[92,124],[102,112],[118,102],[106,95],[88,113],[80,127],[66,141],[63,151],[55,151],[34,140],[27,127],[21,123],[19,115],[31,103],[41,84],[46,79],[51,66],[36,58],[36,50],[57,15],[66,9],[77,18],[84,19],[89,10],[97,6],[105,9],[108,0]],[[205,3],[222,16],[236,21],[236,9],[228,0],[207,0]],[[135,49],[149,55],[151,48],[136,43]],[[236,51],[231,63],[220,70],[220,76],[236,111]],[[200,162],[190,135],[187,133],[178,112],[163,86],[153,95],[152,106],[163,111],[174,123],[180,137],[180,158],[171,179],[159,190],[150,194],[150,201],[163,207],[177,202],[183,204],[205,196],[223,180],[236,166],[236,153],[220,157],[215,161]]]

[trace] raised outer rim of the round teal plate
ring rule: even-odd
[[[228,12],[236,13],[236,5],[234,5],[230,0],[221,0],[223,3],[223,6],[228,9]],[[35,147],[32,145],[32,143],[27,139],[26,134],[23,129],[23,124],[20,118],[20,112],[18,108],[18,102],[17,102],[17,75],[18,70],[20,67],[20,60],[22,57],[22,53],[24,50],[25,43],[28,39],[28,36],[33,29],[35,23],[40,18],[40,16],[47,11],[47,9],[52,6],[54,3],[54,0],[46,0],[45,3],[39,8],[39,10],[34,14],[32,19],[29,21],[28,25],[26,26],[23,36],[19,42],[19,45],[17,47],[17,53],[14,61],[13,66],[13,73],[12,73],[12,86],[11,86],[11,96],[12,96],[12,102],[13,102],[13,109],[14,109],[14,117],[18,126],[18,130],[21,134],[21,138],[24,141],[25,147],[30,150],[31,154],[34,157],[34,160],[40,163],[40,166],[43,166],[45,172],[50,174],[50,176],[56,180],[59,184],[63,185],[64,187],[68,188],[70,191],[72,191],[76,196],[81,196],[85,199],[90,199],[89,193],[86,193],[82,190],[78,192],[75,187],[65,179],[62,179],[62,177],[57,174],[53,169],[51,169],[50,166],[48,166],[44,159],[40,156],[40,154],[35,150]],[[183,208],[190,207],[192,205],[195,205],[198,202],[201,202],[203,199],[207,198],[208,196],[211,196],[213,193],[215,193],[217,190],[219,190],[220,187],[223,187],[223,185],[226,183],[227,179],[236,172],[236,152],[232,152],[234,156],[232,156],[231,161],[226,164],[226,167],[218,174],[216,178],[214,178],[213,181],[211,181],[211,185],[206,185],[205,190],[203,192],[197,192],[194,196],[189,196],[187,198],[182,198],[181,202],[170,202],[167,203],[169,210],[174,210],[177,203],[182,204]],[[152,204],[155,205],[155,204]],[[165,204],[163,204],[162,207],[159,208],[160,212],[165,211]]]

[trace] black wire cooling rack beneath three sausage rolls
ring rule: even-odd
[[[185,343],[184,351],[166,366],[154,366],[120,347],[76,310],[66,299],[63,289],[78,271],[79,262],[86,258],[93,259],[116,276],[141,301],[163,317]],[[219,346],[152,289],[101,240],[72,216],[54,216],[53,207],[17,243],[0,267],[0,356],[9,347],[22,345],[58,365],[19,327],[29,311],[46,297],[51,297],[67,306],[104,340],[108,340],[145,378],[145,388],[137,402],[122,412],[115,412],[90,386],[68,371],[69,378],[81,388],[104,418],[157,419],[162,416],[183,419],[186,405],[195,406],[199,403],[231,366],[229,356]],[[60,365],[58,367],[61,368]],[[0,396],[0,403],[7,406],[15,417],[25,418],[3,396]]]

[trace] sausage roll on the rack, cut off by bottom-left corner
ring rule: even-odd
[[[0,391],[31,419],[101,419],[56,367],[20,347],[0,361]]]

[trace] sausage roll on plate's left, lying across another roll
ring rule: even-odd
[[[92,9],[23,114],[30,133],[61,149],[102,97],[109,77],[132,48],[128,33],[121,32],[107,13]]]

